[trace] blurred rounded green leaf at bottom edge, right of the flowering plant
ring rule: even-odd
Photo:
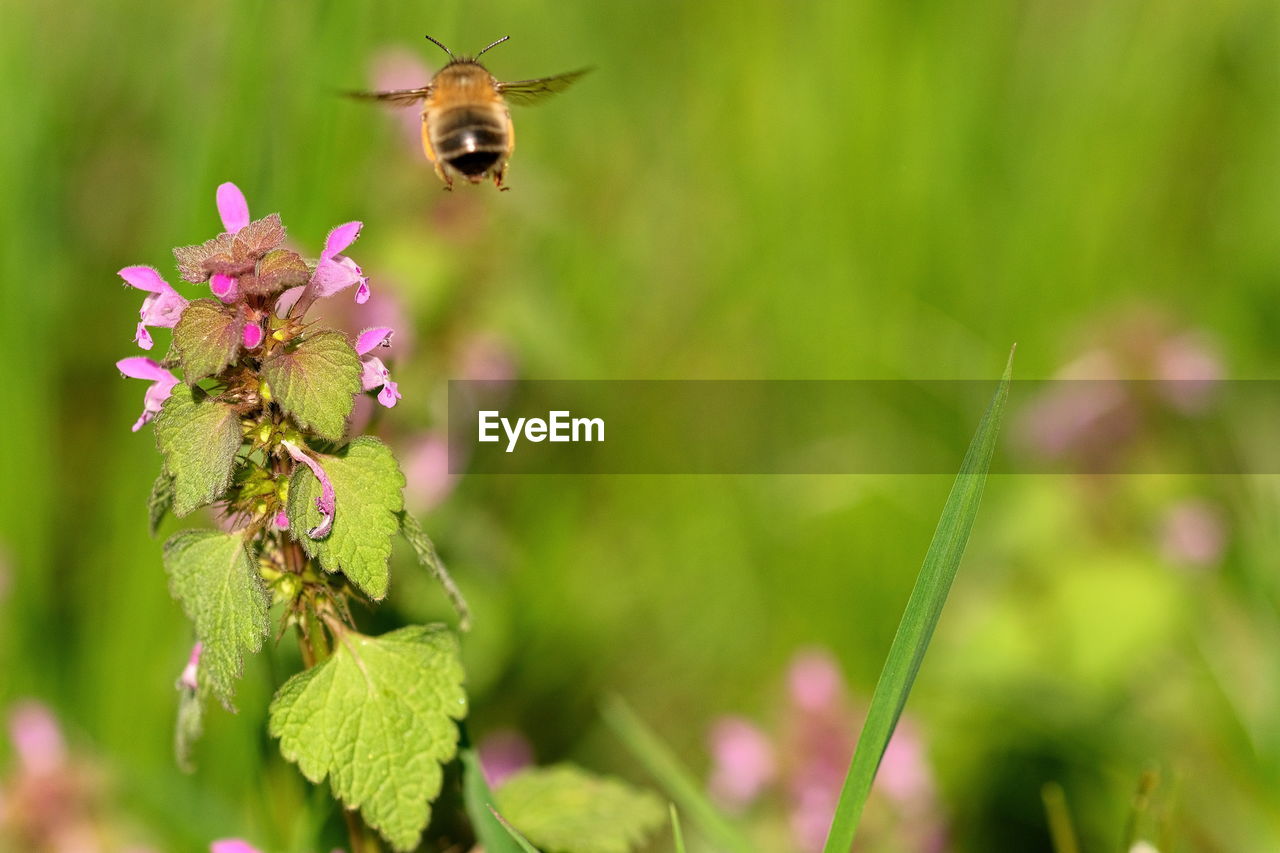
[[[520,771],[498,789],[498,808],[548,853],[627,853],[666,817],[649,792],[573,765]]]

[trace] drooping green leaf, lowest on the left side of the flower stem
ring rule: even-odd
[[[164,543],[169,590],[204,644],[196,683],[233,710],[244,654],[262,648],[268,597],[239,533],[180,530]]]

